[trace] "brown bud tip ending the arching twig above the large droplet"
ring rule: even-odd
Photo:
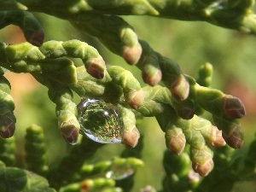
[[[86,61],[86,71],[96,79],[104,78],[106,73],[105,61],[101,56],[98,58],[89,59]]]

